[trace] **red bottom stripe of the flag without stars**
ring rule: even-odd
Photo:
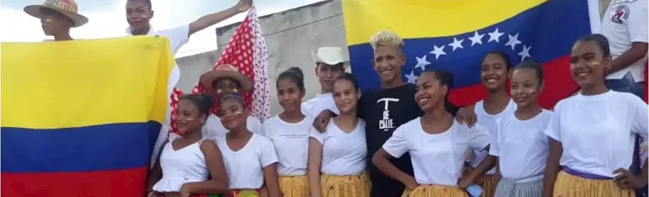
[[[141,197],[148,167],[101,172],[0,173],[0,196]]]

